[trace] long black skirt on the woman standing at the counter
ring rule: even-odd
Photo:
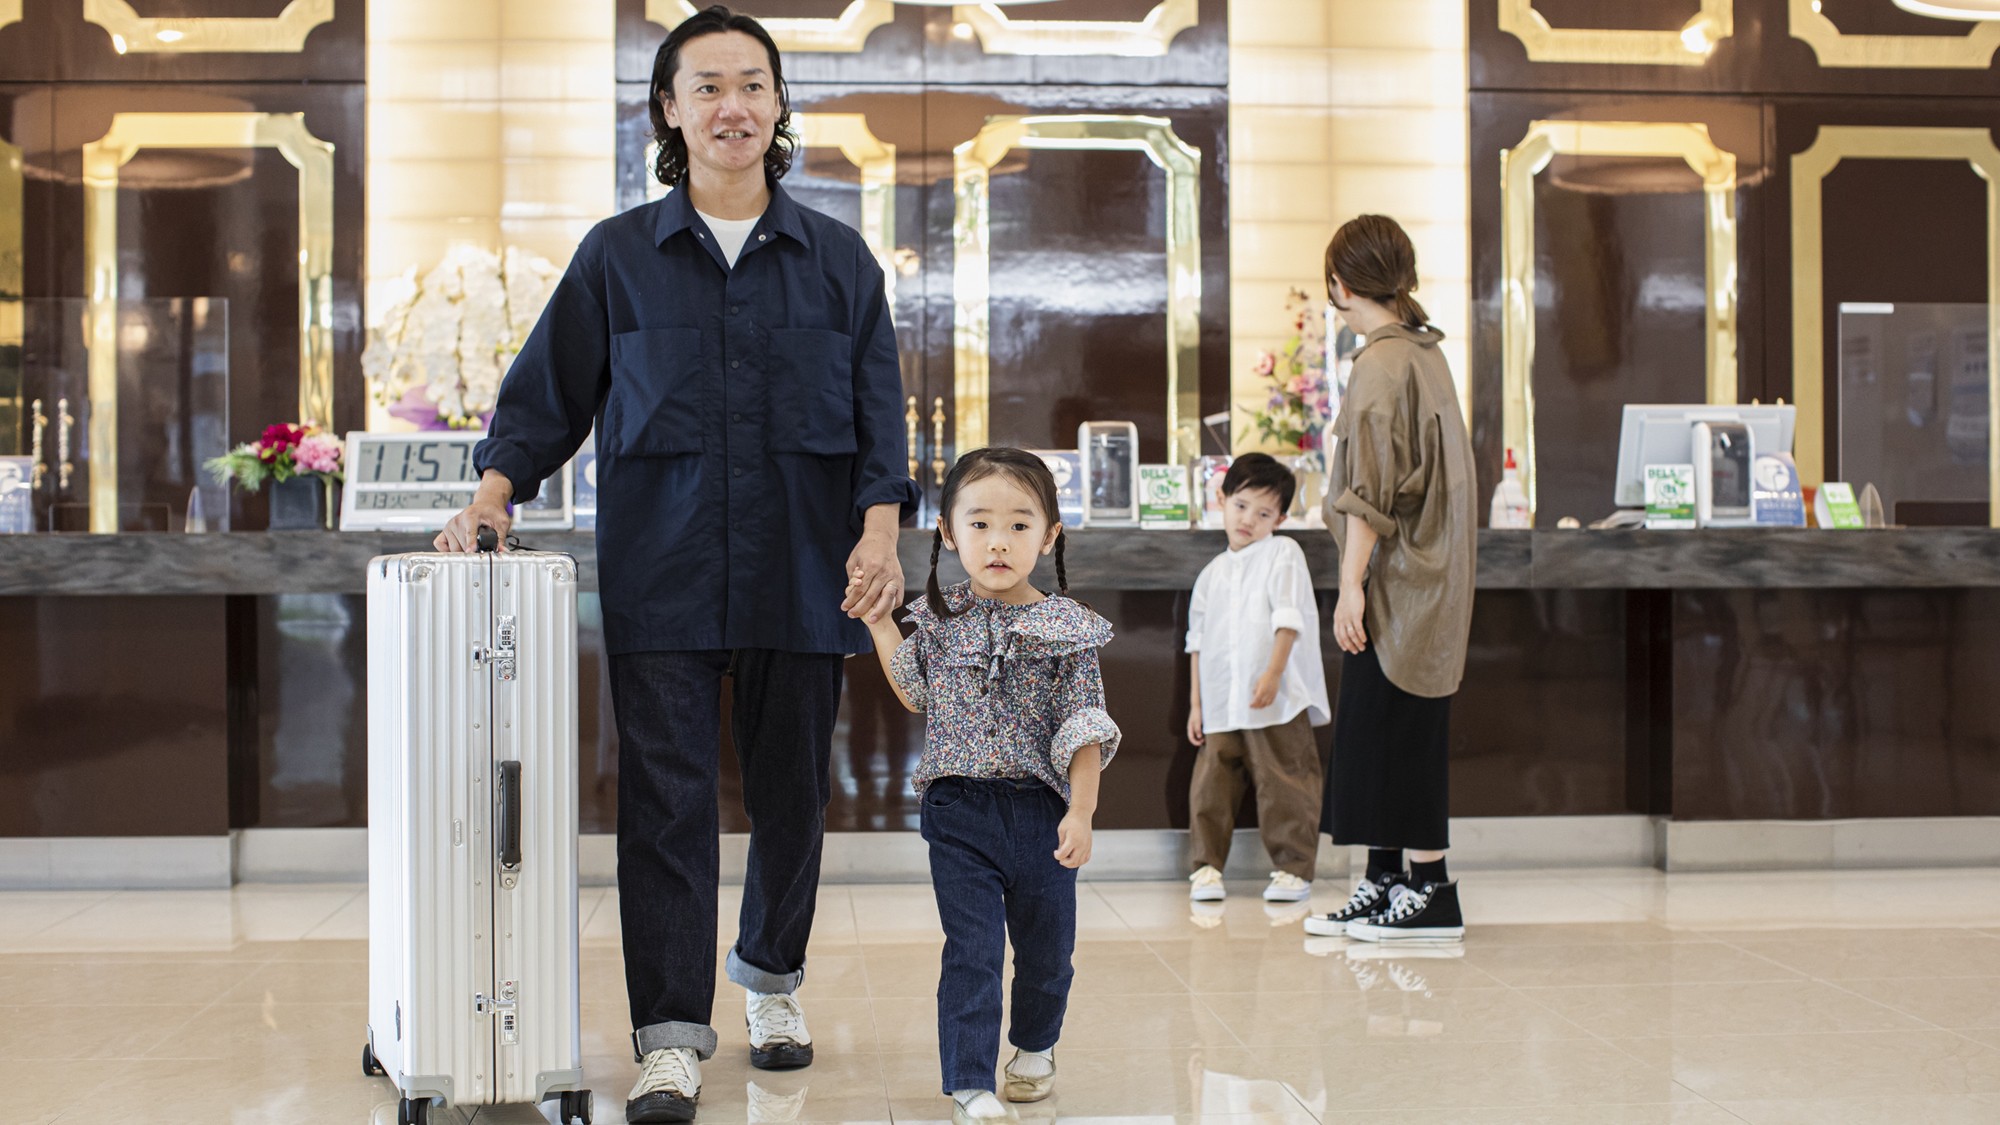
[[[1382,675],[1374,645],[1348,653],[1320,831],[1336,845],[1448,849],[1450,725],[1452,697],[1402,691]]]

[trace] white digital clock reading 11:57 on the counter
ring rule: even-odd
[[[438,530],[472,502],[478,430],[370,434],[350,432],[340,530]],[[514,508],[514,530],[564,530],[574,522],[574,470],[542,484],[542,494]]]

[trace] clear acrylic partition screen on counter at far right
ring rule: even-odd
[[[1990,520],[1986,308],[1840,306],[1840,474],[1874,484],[1892,522]]]

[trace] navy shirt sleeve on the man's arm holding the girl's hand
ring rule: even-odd
[[[916,480],[910,480],[910,438],[902,424],[902,362],[896,324],[888,314],[882,266],[862,254],[856,262],[864,312],[854,332],[854,530],[876,504],[898,504],[898,520],[916,514]]]

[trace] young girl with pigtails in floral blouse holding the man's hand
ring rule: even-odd
[[[1056,478],[1040,456],[978,448],[944,480],[930,583],[906,641],[868,619],[876,655],[910,711],[926,715],[916,769],[930,883],[944,923],[938,1055],[952,1121],[1004,1119],[994,1097],[1000,975],[1014,939],[1008,1101],[1040,1101],[1070,999],[1076,869],[1090,861],[1098,771],[1118,749],[1098,649],[1110,623],[1068,599]],[[938,552],[972,575],[938,589]],[[1056,556],[1056,597],[1028,585]]]

